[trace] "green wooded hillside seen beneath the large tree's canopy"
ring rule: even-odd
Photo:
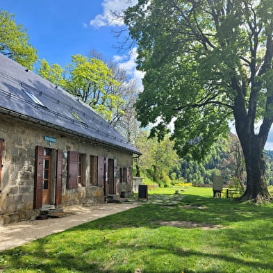
[[[208,156],[200,162],[188,157],[179,159],[174,156],[172,142],[167,139],[159,144],[156,140],[150,139],[142,142],[142,145],[144,145],[141,147],[144,153],[140,162],[142,174],[160,185],[181,182],[210,184],[213,183],[214,175],[223,176],[224,183],[232,183],[234,178],[240,179],[242,183],[246,181],[245,160],[238,138],[232,133],[229,134],[229,138],[218,140],[210,149]],[[160,154],[161,159],[168,158],[170,162],[163,160],[159,163],[158,160],[152,159],[153,154]],[[265,151],[265,161],[267,184],[273,185],[273,151]]]

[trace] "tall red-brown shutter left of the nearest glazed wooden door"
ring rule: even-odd
[[[44,147],[36,146],[35,179],[34,179],[34,208],[42,208],[42,181],[44,170]]]

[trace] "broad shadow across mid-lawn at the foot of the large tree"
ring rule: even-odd
[[[74,229],[120,229],[123,227],[149,226],[157,228],[160,221],[189,221],[212,225],[230,226],[236,222],[273,220],[272,206],[238,204],[232,199],[213,199],[187,195],[175,206],[144,204],[122,213],[76,226]]]

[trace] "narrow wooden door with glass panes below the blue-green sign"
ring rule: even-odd
[[[42,181],[42,205],[51,201],[51,150],[44,149],[43,181]]]

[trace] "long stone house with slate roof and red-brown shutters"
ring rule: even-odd
[[[0,223],[132,191],[140,152],[87,104],[0,54]]]

